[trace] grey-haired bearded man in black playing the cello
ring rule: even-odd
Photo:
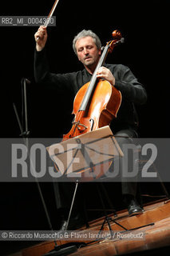
[[[82,30],[73,39],[73,50],[85,69],[69,74],[51,74],[49,72],[45,54],[47,32],[44,26],[40,26],[34,38],[36,41],[34,60],[36,82],[53,84],[57,90],[69,90],[71,94],[75,95],[81,86],[90,81],[101,57],[101,41],[91,30]],[[137,137],[137,116],[134,103],[144,104],[147,99],[146,91],[127,66],[105,64],[97,70],[97,78],[107,80],[121,91],[121,108],[110,127],[118,144],[122,147],[124,143],[132,142],[132,138]],[[131,182],[128,178],[122,178],[121,182],[128,214],[140,214],[142,209],[136,202],[136,182]]]

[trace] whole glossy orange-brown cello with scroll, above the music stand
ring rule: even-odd
[[[121,92],[106,80],[97,81],[97,70],[103,66],[107,54],[121,42],[124,42],[121,32],[114,30],[113,40],[107,42],[90,82],[82,86],[74,98],[73,126],[68,134],[63,135],[63,141],[109,126],[112,119],[117,117],[121,106]]]

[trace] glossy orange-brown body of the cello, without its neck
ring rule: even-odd
[[[87,82],[77,92],[73,102],[73,114],[75,115],[73,126],[68,134],[63,135],[63,141],[78,135],[108,126],[121,106],[121,92],[108,81],[97,82],[90,98],[90,104],[85,110],[80,110],[81,103],[89,88]]]

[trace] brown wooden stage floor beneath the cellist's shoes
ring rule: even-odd
[[[153,250],[156,248],[164,248],[165,246],[170,246],[170,200],[162,200],[159,202],[152,202],[148,206],[144,206],[144,213],[136,216],[129,217],[127,210],[122,210],[117,212],[117,217],[112,214],[109,217],[113,218],[115,222],[110,222],[112,230],[116,233],[121,232],[121,234],[129,234],[133,232],[138,232],[142,234],[141,239],[128,239],[123,236],[113,238],[105,238],[100,242],[91,242],[87,246],[77,248],[77,251],[69,254],[72,256],[113,256],[121,254],[132,254],[140,252]],[[89,228],[85,226],[80,230],[100,230],[101,225],[105,218],[99,218],[93,222],[89,222]],[[124,229],[117,225],[117,223],[124,226],[127,230],[122,232]],[[143,227],[141,227],[143,226]],[[139,229],[137,229],[140,227]],[[132,229],[136,229],[132,230]],[[105,223],[103,230],[109,230],[109,226]],[[76,242],[69,241],[69,242]],[[80,241],[78,241],[80,242]],[[85,243],[89,241],[83,241]],[[64,244],[65,241],[57,241],[57,245]],[[41,242],[37,246],[32,246],[22,250],[20,254],[22,256],[42,256],[53,250],[54,242],[47,241]],[[17,254],[16,254],[17,255]]]

